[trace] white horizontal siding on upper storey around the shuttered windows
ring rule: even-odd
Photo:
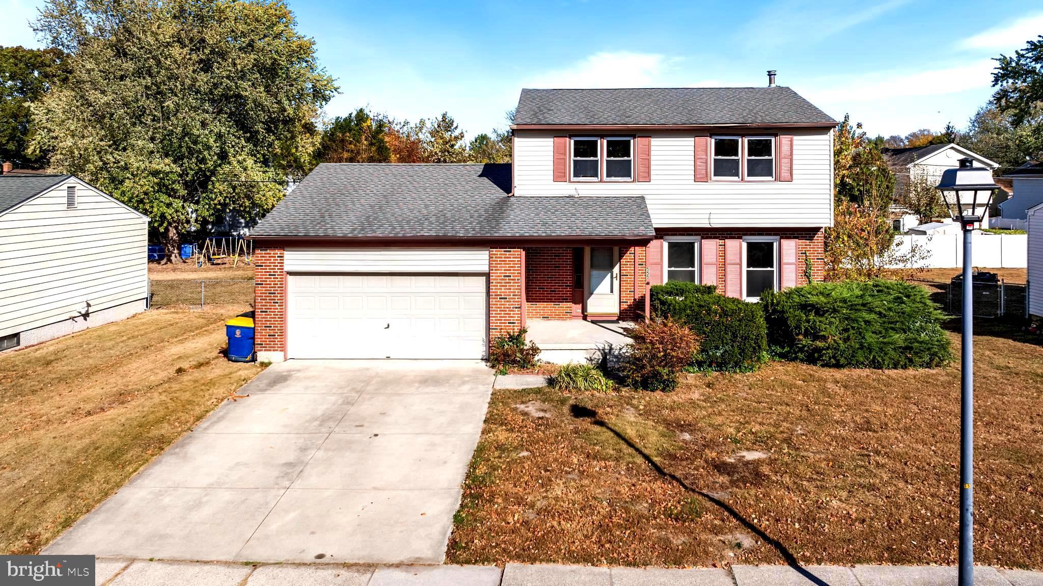
[[[832,224],[830,128],[779,130],[778,133],[794,135],[793,181],[760,182],[696,182],[696,132],[681,130],[637,132],[652,138],[651,181],[555,182],[554,137],[563,133],[515,131],[516,195],[644,195],[656,227],[818,227]],[[728,135],[727,131],[721,133]]]

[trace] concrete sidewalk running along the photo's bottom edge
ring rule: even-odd
[[[340,564],[243,565],[99,559],[98,586],[948,586],[951,566],[736,565],[731,569],[662,569],[569,565],[496,566]],[[1043,572],[974,568],[977,586],[1043,586]]]

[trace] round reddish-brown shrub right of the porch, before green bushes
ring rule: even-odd
[[[699,338],[672,319],[640,322],[627,332],[632,342],[620,365],[627,386],[646,391],[673,391],[681,370],[699,351]]]

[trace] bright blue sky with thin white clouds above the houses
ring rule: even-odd
[[[37,0],[0,0],[0,44],[38,45]],[[1043,33],[1035,1],[320,2],[290,0],[341,89],[329,116],[447,111],[503,127],[522,88],[789,86],[871,135],[957,127],[992,94],[990,57]]]

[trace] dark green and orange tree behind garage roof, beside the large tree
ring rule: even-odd
[[[390,163],[389,121],[360,107],[351,116],[336,117],[322,131],[316,158],[322,163]]]

